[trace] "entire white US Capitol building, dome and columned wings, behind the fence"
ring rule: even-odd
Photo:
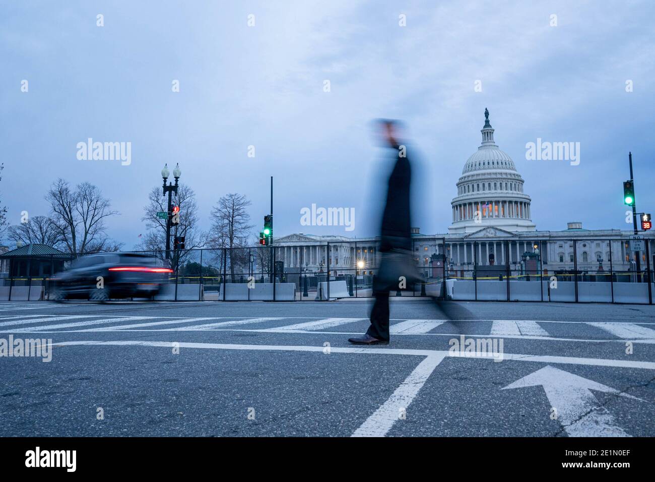
[[[632,230],[585,230],[581,222],[569,222],[567,229],[561,231],[536,230],[531,198],[523,190],[525,181],[512,158],[496,145],[486,109],[481,133],[482,142],[464,163],[457,181],[448,232],[425,235],[419,228],[412,229],[417,264],[426,275],[431,277],[435,271],[430,268],[442,268],[443,262],[451,273],[462,277],[472,275],[474,262],[483,266],[509,264],[511,270],[522,270],[522,263],[528,258],[542,263],[544,273],[553,273],[572,270],[574,253],[581,271],[608,270],[610,254],[612,270],[631,269],[634,255],[629,251],[628,240]],[[655,235],[650,231],[641,234],[645,234],[652,254]],[[509,259],[502,248],[506,241],[510,242]],[[283,248],[280,259],[284,260],[285,270],[325,272],[329,262],[330,271],[337,275],[353,273],[355,267],[360,275],[373,274],[370,270],[376,267],[376,244],[375,237],[354,239],[305,233],[274,241],[278,250]],[[646,253],[639,255],[645,270]]]

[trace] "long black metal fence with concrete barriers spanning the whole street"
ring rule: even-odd
[[[639,266],[627,239],[529,241],[413,239],[421,282],[391,296],[453,300],[652,304],[650,241]],[[519,243],[523,243],[520,244]],[[528,247],[526,250],[525,247]],[[165,260],[165,251],[141,251]],[[620,258],[616,256],[620,253]],[[613,258],[614,257],[614,258]],[[373,295],[379,256],[375,241],[337,241],[170,252],[172,299],[303,301]],[[63,268],[71,259],[65,259]],[[37,266],[37,268],[35,268]],[[48,300],[61,258],[14,268],[0,279],[5,300]],[[189,285],[201,285],[201,288]],[[185,288],[189,287],[189,289]]]

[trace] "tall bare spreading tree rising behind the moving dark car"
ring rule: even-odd
[[[109,239],[105,231],[105,219],[119,213],[111,209],[98,186],[81,182],[73,191],[59,178],[45,198],[50,203],[50,217],[56,220],[54,226],[73,256],[120,249],[121,244]]]

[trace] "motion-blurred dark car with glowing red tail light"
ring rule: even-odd
[[[75,260],[68,270],[57,273],[51,299],[153,298],[162,285],[168,284],[172,272],[161,260],[147,254],[89,254]]]

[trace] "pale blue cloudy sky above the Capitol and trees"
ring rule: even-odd
[[[179,162],[204,228],[217,199],[238,192],[252,201],[259,231],[274,176],[276,235],[373,235],[386,164],[370,121],[393,117],[419,153],[413,225],[444,233],[485,108],[525,178],[538,230],[573,220],[629,229],[630,150],[637,207],[655,213],[650,1],[6,1],[1,9],[0,195],[12,224],[21,211],[48,213],[43,196],[56,178],[89,181],[121,212],[109,235],[130,249],[145,233],[148,191],[164,163]],[[131,164],[77,159],[87,138],[131,142]],[[525,144],[537,138],[580,142],[580,164],[527,161]],[[355,230],[301,226],[312,203],[354,208]]]

